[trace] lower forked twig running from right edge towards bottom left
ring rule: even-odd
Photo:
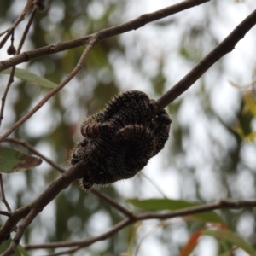
[[[119,222],[119,224],[114,225],[110,230],[105,233],[102,233],[100,236],[96,236],[90,239],[86,239],[84,241],[61,241],[61,242],[52,242],[52,243],[44,243],[44,244],[27,244],[24,248],[26,250],[32,249],[50,249],[50,248],[61,248],[61,247],[88,247],[92,243],[96,241],[102,241],[107,239],[110,236],[113,236],[119,230],[125,228],[128,225],[134,224],[137,221],[147,220],[147,219],[166,219],[166,218],[176,218],[176,217],[183,217],[186,215],[191,215],[195,213],[201,212],[209,212],[212,210],[218,209],[239,209],[244,207],[256,207],[256,201],[231,201],[231,200],[222,200],[214,203],[210,203],[207,205],[197,206],[197,207],[189,207],[182,210],[172,211],[172,212],[165,212],[165,213],[154,213],[154,212],[147,212],[147,213],[140,213],[134,215],[133,219],[126,218]],[[75,250],[73,248],[72,250]],[[72,251],[74,252],[74,251]],[[61,252],[59,254],[51,254],[51,255],[62,255],[65,253],[69,253],[68,251]]]

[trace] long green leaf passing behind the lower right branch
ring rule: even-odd
[[[170,199],[148,199],[137,200],[129,199],[129,203],[135,207],[140,207],[151,211],[169,210],[176,211],[189,207],[197,207],[200,204],[195,202],[183,201],[183,200],[170,200]],[[224,224],[224,220],[216,212],[202,212],[193,214],[193,216],[203,222],[221,223]]]

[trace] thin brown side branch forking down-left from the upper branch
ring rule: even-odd
[[[28,113],[26,113],[18,122],[16,122],[14,125],[12,125],[8,131],[6,131],[3,136],[0,137],[0,143],[3,142],[3,140],[8,137],[13,131],[15,131],[20,125],[22,125],[24,122],[26,122],[27,119],[31,118],[34,113],[36,113],[40,108],[44,106],[44,103],[48,102],[49,99],[54,96],[59,90],[61,90],[73,77],[79,73],[81,68],[84,66],[84,61],[87,55],[89,54],[90,50],[93,48],[93,46],[96,44],[97,40],[96,38],[92,38],[90,44],[84,49],[84,53],[81,56],[78,64],[76,67],[74,67],[73,71],[68,74],[66,79],[64,79],[61,84],[58,84],[53,90],[50,90],[44,98],[38,102],[38,104],[32,108]]]

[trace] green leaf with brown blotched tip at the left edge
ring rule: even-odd
[[[0,172],[19,172],[39,166],[42,160],[13,148],[0,148]]]

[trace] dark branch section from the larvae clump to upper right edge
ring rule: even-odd
[[[215,49],[206,55],[183,79],[168,90],[160,99],[155,102],[158,110],[166,108],[171,102],[181,96],[185,90],[195,83],[214,63],[224,55],[235,49],[236,44],[244,38],[245,34],[256,24],[256,10],[248,15],[236,28],[230,32]]]

